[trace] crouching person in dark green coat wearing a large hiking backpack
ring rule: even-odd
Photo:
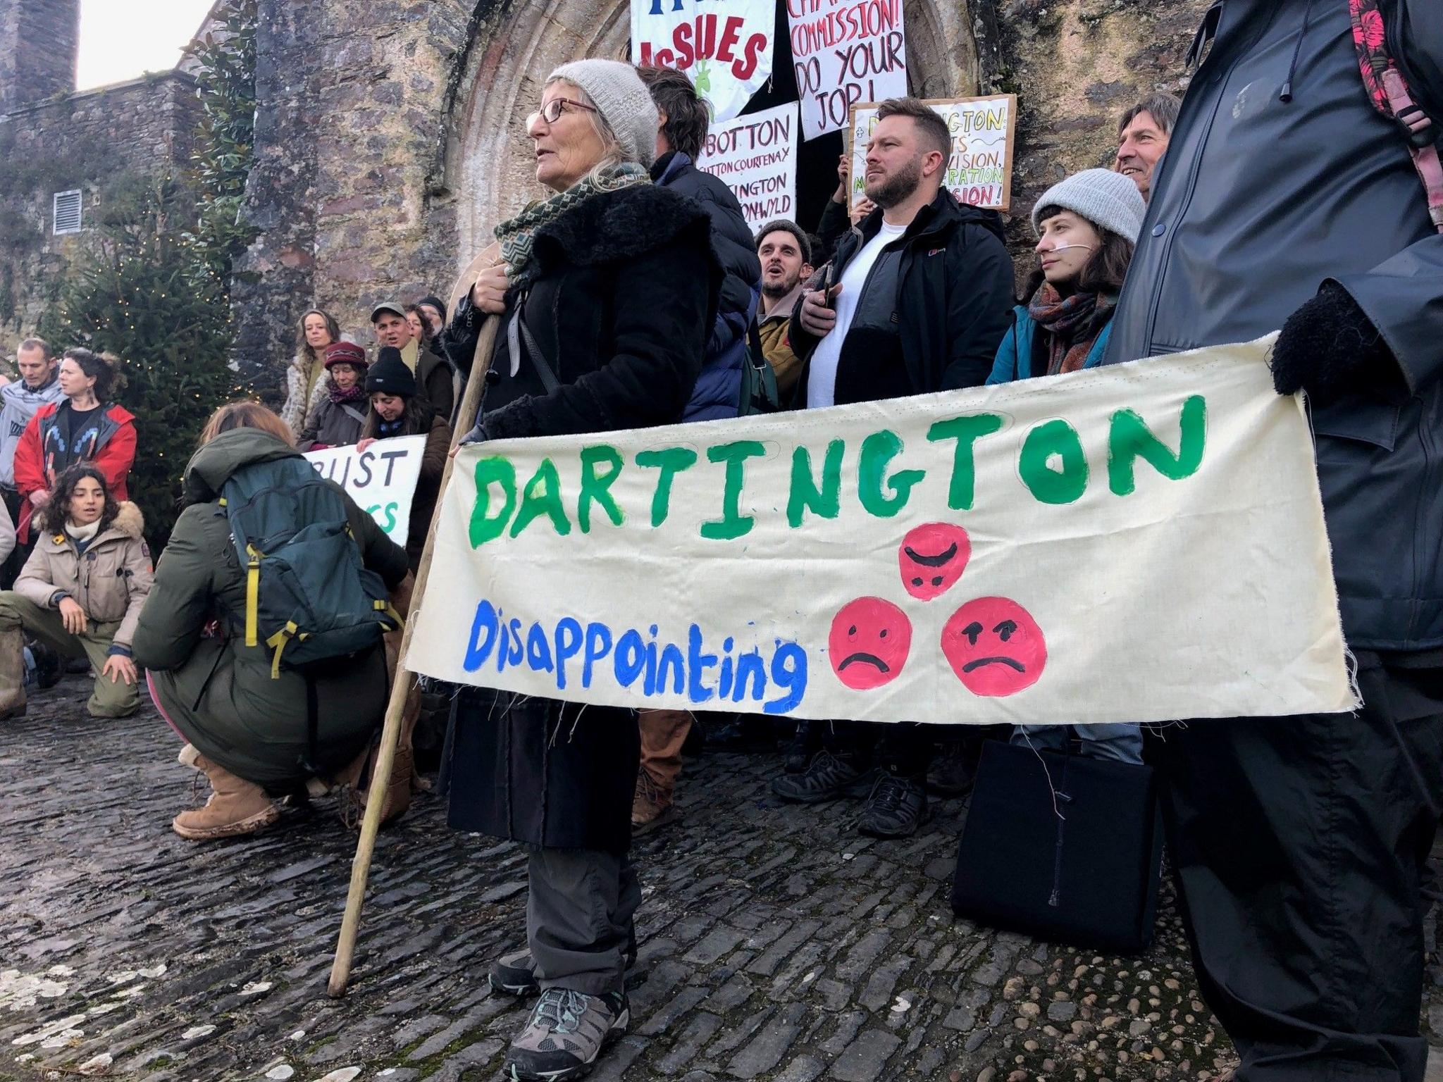
[[[193,841],[270,825],[273,793],[354,766],[385,714],[405,550],[291,440],[255,403],[211,417],[133,641],[180,760],[214,789],[172,822]]]

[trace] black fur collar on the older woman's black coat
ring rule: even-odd
[[[644,255],[687,232],[710,237],[706,211],[664,188],[632,185],[595,195],[543,225],[532,255],[543,271],[561,263],[595,267]]]

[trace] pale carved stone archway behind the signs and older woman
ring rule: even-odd
[[[625,59],[628,0],[541,0],[501,14],[470,50],[456,95],[447,177],[457,196],[457,268],[491,242],[498,221],[538,190],[524,117],[545,76],[582,56]],[[975,94],[977,43],[967,3],[905,0],[908,75],[918,97]],[[785,32],[785,25],[778,26]]]

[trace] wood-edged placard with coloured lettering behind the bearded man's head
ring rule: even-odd
[[[993,211],[1012,209],[1012,150],[1017,137],[1017,95],[990,98],[929,98],[926,101],[952,133],[952,157],[942,176],[960,203]],[[847,154],[851,159],[851,205],[866,192],[867,141],[877,124],[877,102],[851,107]]]

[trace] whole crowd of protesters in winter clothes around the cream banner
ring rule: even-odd
[[[248,568],[232,544],[225,493],[260,492],[261,467],[300,479],[303,450],[424,436],[407,548],[348,496],[336,505],[355,571],[377,583],[377,613],[404,610],[453,431],[475,443],[734,417],[755,351],[781,408],[814,410],[1281,327],[1274,382],[1315,407],[1364,707],[1193,724],[1146,755],[1165,778],[1193,956],[1242,1055],[1237,1078],[1420,1082],[1420,873],[1443,808],[1443,583],[1436,560],[1416,567],[1404,548],[1436,547],[1443,521],[1429,450],[1443,394],[1443,239],[1400,133],[1359,89],[1346,13],[1310,14],[1304,0],[1254,9],[1221,32],[1211,23],[1218,39],[1185,102],[1137,102],[1110,167],[1036,199],[1022,296],[1000,215],[942,185],[952,137],[925,102],[877,110],[864,198],[853,202],[844,159],[814,229],[752,231],[726,185],[697,169],[709,108],[685,75],[561,65],[527,120],[545,198],[496,226],[449,304],[377,304],[371,351],[307,312],[280,413],[238,403],[206,426],[154,573],[126,493],[134,418],[111,401],[110,364],[27,339],[19,379],[0,388],[0,551],[13,583],[0,593],[0,711],[23,713],[26,649],[88,659],[98,717],[134,711],[144,679],[185,740],[182,763],[212,788],[176,832],[248,834],[278,818],[277,796],[364,789],[395,664],[394,623],[380,615],[365,649],[304,675],[280,664],[287,633],[251,645],[251,628],[218,619],[255,609],[258,554]],[[1443,16],[1418,7],[1407,27],[1410,72],[1443,98],[1423,59],[1439,55]],[[1277,102],[1248,126],[1221,124],[1219,102],[1250,79],[1283,87]],[[1339,117],[1358,134],[1339,141]],[[1258,153],[1240,156],[1240,138]],[[1307,198],[1325,189],[1326,219]],[[476,358],[492,317],[502,332]],[[462,417],[478,361],[483,403]],[[1397,544],[1377,537],[1394,505],[1418,511]],[[964,736],[915,723],[771,726],[596,705],[582,718],[579,704],[476,687],[449,697],[450,825],[528,850],[527,942],[489,977],[538,997],[508,1078],[579,1076],[626,1030],[642,902],[631,841],[675,821],[684,749],[785,742],[779,799],[856,799],[857,830],[885,840],[916,832],[929,793],[970,789],[981,736],[1144,760],[1137,726],[1066,718]]]

